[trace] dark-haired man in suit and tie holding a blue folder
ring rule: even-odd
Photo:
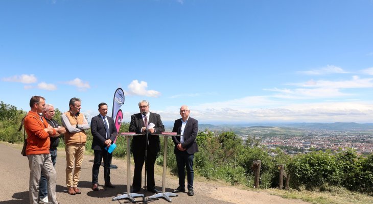
[[[107,104],[99,104],[99,112],[100,114],[92,117],[90,122],[90,131],[93,136],[92,149],[95,151],[95,160],[92,167],[92,190],[94,191],[99,190],[98,177],[102,158],[104,158],[105,187],[115,188],[110,182],[111,154],[107,152],[105,147],[110,147],[118,131],[116,131],[114,120],[106,116]]]

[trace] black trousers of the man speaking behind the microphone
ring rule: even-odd
[[[148,150],[147,155],[147,164],[146,164],[146,180],[147,180],[147,189],[155,189],[154,182],[154,164],[157,154],[154,154]],[[141,189],[141,177],[143,166],[145,162],[145,151],[144,152],[133,152],[133,161],[135,163],[135,169],[133,173],[133,182],[132,188],[134,190]]]

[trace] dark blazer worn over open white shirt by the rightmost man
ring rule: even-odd
[[[177,132],[178,135],[181,134],[181,118],[175,120],[174,128],[172,129],[172,132]],[[198,152],[198,146],[196,142],[198,134],[198,120],[189,117],[188,122],[186,122],[184,127],[184,143],[181,144],[183,148],[186,148],[186,152],[188,154],[192,155],[196,152]],[[177,149],[177,144],[180,144],[180,137],[172,137],[172,141],[175,143],[175,149],[174,153],[177,154],[178,152],[181,152],[179,149]]]

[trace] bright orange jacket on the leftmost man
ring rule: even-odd
[[[37,113],[29,111],[24,124],[27,133],[26,155],[49,154],[51,140],[49,134],[44,131],[44,128],[48,127],[48,122],[44,118],[41,121]],[[53,129],[53,135],[55,134],[56,130]]]

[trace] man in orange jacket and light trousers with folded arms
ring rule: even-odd
[[[56,135],[56,130],[39,114],[45,106],[45,98],[32,96],[30,99],[31,110],[24,119],[25,131],[27,133],[26,155],[29,159],[30,203],[38,202],[38,188],[40,173],[43,172],[48,182],[48,200],[50,203],[58,204],[56,199],[56,170],[53,167],[49,148],[50,137]]]

